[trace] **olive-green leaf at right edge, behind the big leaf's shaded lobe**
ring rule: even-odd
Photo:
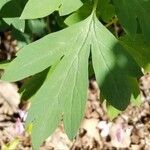
[[[150,44],[144,41],[143,36],[136,35],[135,38],[123,36],[120,40],[136,62],[146,72],[150,72]]]

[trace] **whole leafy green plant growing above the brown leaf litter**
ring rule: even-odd
[[[32,76],[20,91],[32,101],[27,123],[33,122],[35,149],[62,118],[69,138],[75,137],[93,70],[110,115],[137,101],[141,68],[150,70],[149,10],[150,0],[1,0],[1,26],[17,30],[26,44],[25,35],[36,40],[3,65],[2,77]]]

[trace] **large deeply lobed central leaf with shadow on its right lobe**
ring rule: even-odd
[[[28,114],[35,149],[52,134],[62,115],[65,132],[74,138],[84,116],[90,50],[102,95],[114,107],[124,109],[132,94],[128,76],[142,73],[94,12],[84,21],[29,44],[6,69],[3,79],[16,81],[52,66],[32,97]]]

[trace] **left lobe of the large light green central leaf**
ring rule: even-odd
[[[53,65],[69,49],[69,43],[66,43],[66,41],[75,32],[77,32],[77,29],[72,31],[65,29],[58,33],[49,34],[23,47],[17,53],[17,58],[6,69],[3,80],[21,80]],[[74,37],[72,39],[74,40]],[[70,42],[72,39],[70,38]]]

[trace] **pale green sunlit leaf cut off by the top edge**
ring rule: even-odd
[[[67,15],[82,6],[80,0],[29,0],[21,15],[22,19],[35,19],[48,16],[55,10],[59,10],[60,15]]]

